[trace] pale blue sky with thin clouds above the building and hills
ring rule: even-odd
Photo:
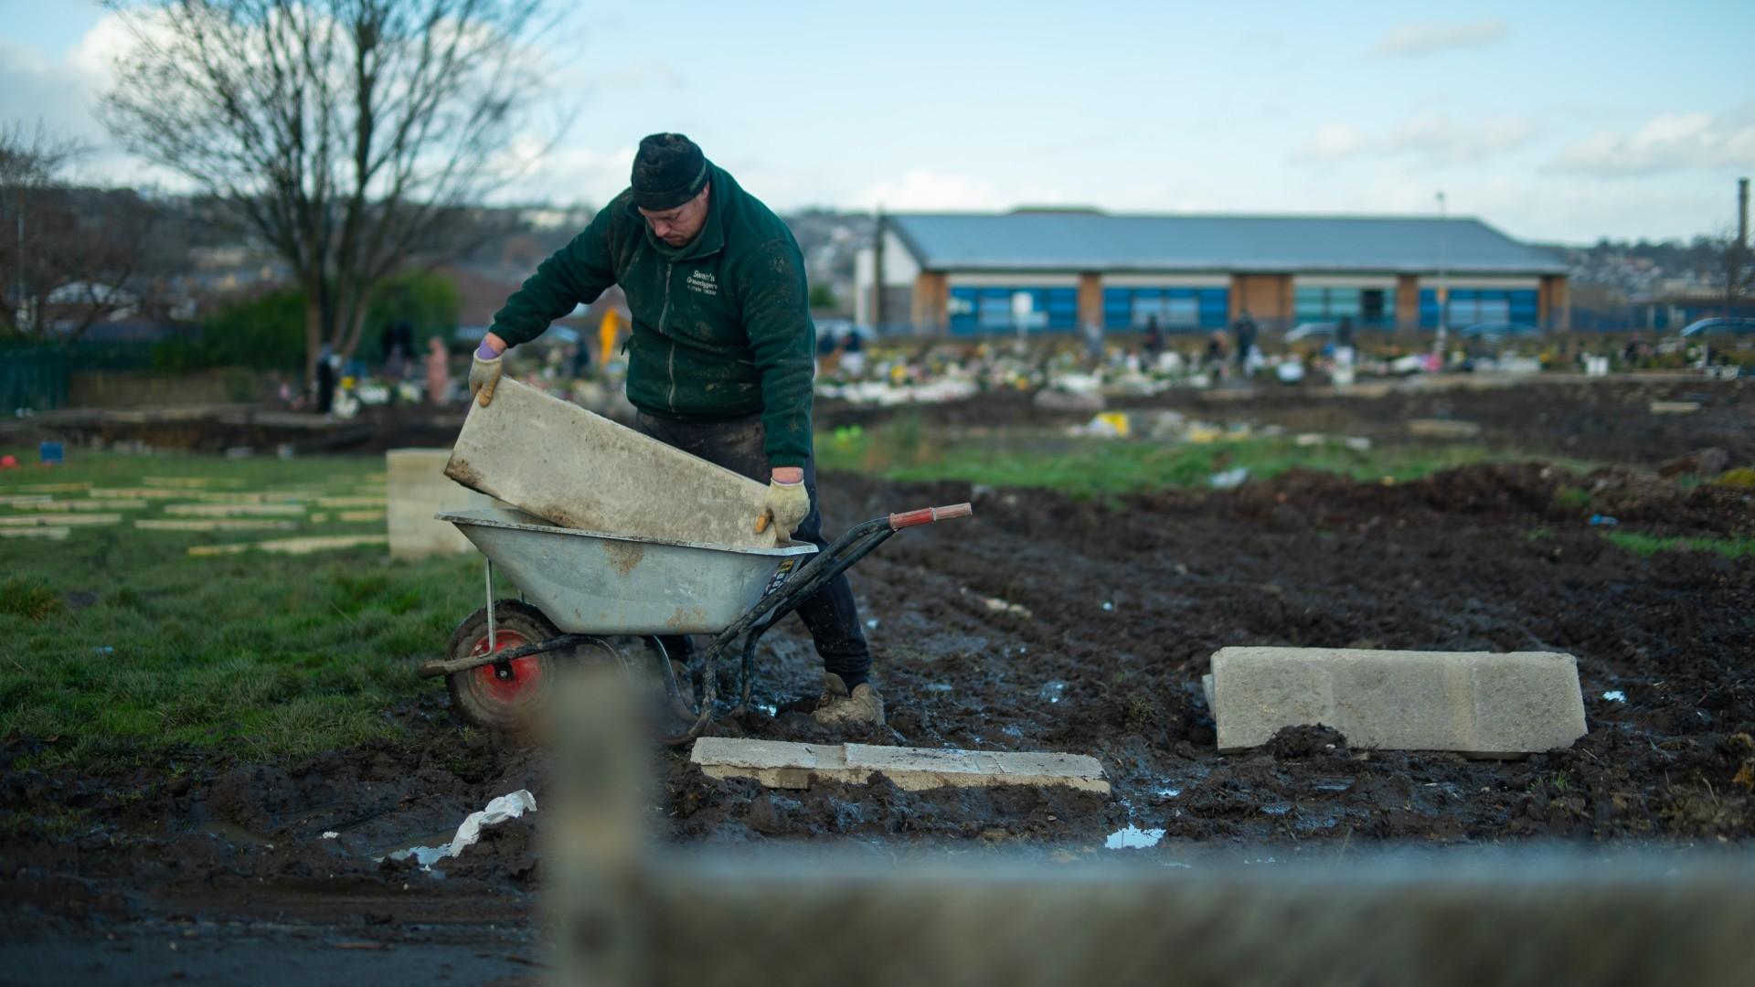
[[[779,211],[1436,214],[1443,191],[1560,242],[1718,232],[1755,174],[1748,0],[569,7],[535,98],[570,125],[511,198],[602,204],[658,130]],[[0,0],[0,125],[154,181],[91,112],[125,44],[95,0]]]

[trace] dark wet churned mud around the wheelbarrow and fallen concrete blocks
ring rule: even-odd
[[[1588,490],[1590,504],[1557,497],[1562,485]],[[653,824],[665,841],[1153,866],[1390,843],[1695,847],[1755,832],[1755,560],[1641,557],[1585,522],[1608,513],[1620,530],[1746,537],[1748,492],[1541,464],[1397,486],[1293,472],[1120,506],[848,476],[823,488],[834,523],[965,499],[976,516],[904,532],[853,573],[886,727],[828,731],[804,715],[816,660],[788,623],[769,636],[755,697],[763,710],[720,732],[1081,752],[1102,760],[1114,796],[881,782],[767,792],[711,782],[663,753]],[[1218,755],[1199,676],[1227,645],[1569,652],[1590,734],[1515,762],[1351,750],[1320,731]],[[5,769],[0,899],[12,936],[0,964],[26,980],[75,962],[88,980],[249,969],[274,982],[325,969],[279,957],[460,982],[530,975],[541,962],[530,919],[544,880],[541,811],[490,831],[441,864],[442,876],[376,857],[444,841],[498,794],[528,787],[541,804],[544,759],[465,739],[441,687],[395,715],[411,743],[290,764]],[[44,739],[4,738],[0,764]],[[1107,850],[1128,825],[1162,829],[1162,841]]]

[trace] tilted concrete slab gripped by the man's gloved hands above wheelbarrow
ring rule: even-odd
[[[493,404],[470,404],[446,476],[551,523],[774,548],[755,532],[767,486],[634,429],[502,379]]]

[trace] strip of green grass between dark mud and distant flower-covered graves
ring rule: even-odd
[[[990,486],[1051,488],[1074,497],[1113,497],[1165,486],[1207,486],[1227,469],[1246,467],[1251,479],[1290,469],[1336,472],[1353,479],[1408,481],[1488,460],[1516,458],[1478,444],[1374,446],[1341,443],[1299,446],[1290,437],[1221,439],[1162,444],[1069,436],[985,436],[979,443],[937,444],[918,420],[899,416],[874,429],[842,429],[816,437],[818,467],[902,481],[962,479]]]

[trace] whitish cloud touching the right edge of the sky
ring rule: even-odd
[[[1564,148],[1548,170],[1637,177],[1755,167],[1755,102],[1725,114],[1662,112],[1632,133],[1599,130]]]

